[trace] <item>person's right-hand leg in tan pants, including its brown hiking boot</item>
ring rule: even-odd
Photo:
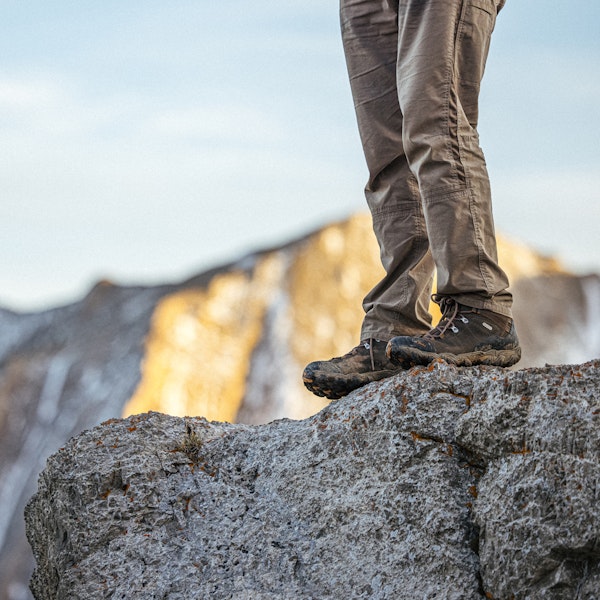
[[[443,313],[426,335],[389,342],[388,356],[402,364],[442,357],[508,366],[520,358],[477,134],[479,86],[499,8],[499,0],[400,2],[404,146],[423,198]]]

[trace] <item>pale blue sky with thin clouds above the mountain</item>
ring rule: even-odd
[[[600,273],[600,2],[507,0],[498,232]],[[366,210],[337,2],[0,0],[0,306],[178,281]]]

